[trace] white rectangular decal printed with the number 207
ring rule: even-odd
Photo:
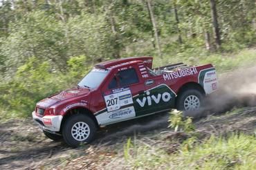
[[[133,104],[131,91],[129,88],[118,88],[113,90],[110,95],[105,95],[107,111],[116,111],[122,106]]]

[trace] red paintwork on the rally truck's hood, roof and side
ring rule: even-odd
[[[91,113],[96,113],[106,108],[103,94],[108,93],[109,89],[107,88],[107,86],[111,79],[115,76],[116,73],[118,73],[118,70],[120,69],[136,69],[139,82],[136,84],[132,84],[132,86],[129,86],[129,88],[131,89],[131,93],[134,96],[137,95],[140,91],[146,91],[147,89],[152,88],[158,84],[167,84],[167,86],[170,86],[170,88],[172,88],[175,93],[178,93],[179,89],[184,84],[187,84],[188,82],[198,83],[198,75],[200,70],[213,67],[212,64],[197,66],[195,68],[198,72],[194,75],[164,80],[163,75],[151,76],[148,74],[149,77],[143,77],[143,75],[140,73],[140,68],[142,65],[147,66],[148,68],[152,68],[152,57],[131,57],[126,59],[116,59],[108,62],[102,62],[100,64],[97,64],[95,68],[109,69],[109,73],[98,88],[91,89],[91,91],[87,88],[72,88],[67,91],[63,91],[62,93],[55,94],[44,100],[41,100],[37,103],[37,107],[46,109],[44,115],[51,115],[51,109],[52,111],[55,111],[55,115],[65,115],[70,109],[77,107],[84,107],[88,109]],[[153,79],[154,84],[150,86],[145,86],[145,81],[147,79]],[[81,104],[82,106],[75,106],[75,104],[77,103]],[[72,107],[65,110],[67,106]],[[37,115],[39,114],[37,113]]]

